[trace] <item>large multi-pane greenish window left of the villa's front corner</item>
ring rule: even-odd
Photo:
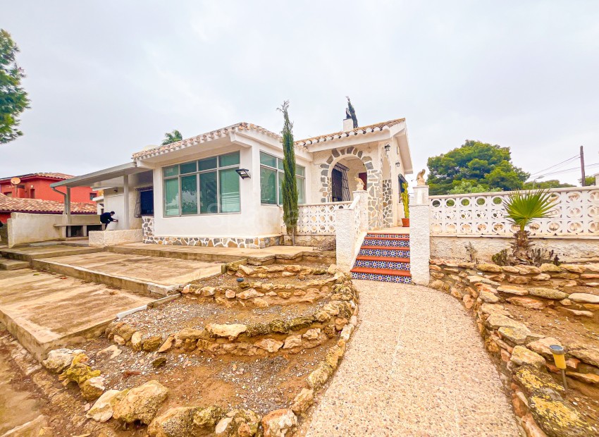
[[[164,215],[239,212],[239,163],[235,152],[164,167]]]

